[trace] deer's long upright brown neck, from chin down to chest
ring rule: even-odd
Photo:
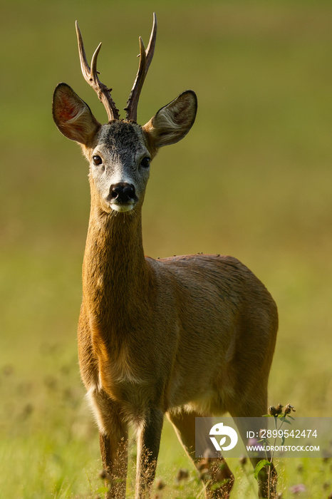
[[[83,259],[83,307],[90,326],[106,341],[130,329],[128,317],[146,297],[148,274],[141,207],[133,213],[105,213],[92,199]]]

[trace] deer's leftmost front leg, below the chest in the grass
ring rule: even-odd
[[[99,426],[100,454],[108,483],[108,499],[125,499],[128,468],[128,427],[120,407],[103,390],[89,393]]]

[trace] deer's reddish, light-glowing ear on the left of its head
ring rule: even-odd
[[[59,83],[54,91],[53,120],[65,137],[84,145],[90,143],[101,126],[88,104],[66,83]]]

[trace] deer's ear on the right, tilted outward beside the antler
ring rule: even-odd
[[[187,135],[194,124],[197,97],[192,90],[180,93],[174,101],[161,108],[144,126],[152,145],[161,148],[174,144]]]

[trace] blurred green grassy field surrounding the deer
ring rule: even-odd
[[[76,145],[56,130],[51,96],[66,81],[106,120],[81,76],[78,19],[88,56],[103,41],[101,79],[123,108],[137,70],[138,36],[147,41],[152,11],[159,32],[140,98],[140,123],[186,88],[197,92],[199,111],[187,138],[162,150],[152,165],[143,213],[145,252],[151,257],[216,252],[247,264],[279,307],[269,403],[292,403],[299,416],[331,416],[331,2],[4,1],[4,498],[94,498],[103,487],[98,432],[84,401],[76,354],[88,168]],[[237,475],[233,497],[255,497],[249,465],[231,461]],[[304,484],[300,498],[327,498],[331,466],[331,460],[282,461],[283,497],[293,497],[291,487]],[[190,469],[190,478],[177,485],[179,468]],[[167,424],[157,476],[167,484],[164,499],[202,497]]]

